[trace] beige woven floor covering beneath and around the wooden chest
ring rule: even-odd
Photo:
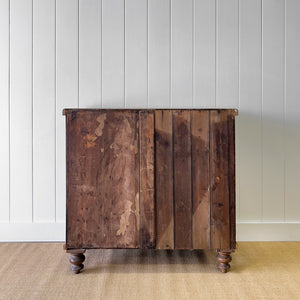
[[[0,299],[300,299],[300,242],[213,251],[89,250],[73,275],[61,243],[0,243]]]

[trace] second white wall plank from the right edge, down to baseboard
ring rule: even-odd
[[[284,220],[284,1],[263,1],[263,221]]]

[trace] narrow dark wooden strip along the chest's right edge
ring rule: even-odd
[[[236,248],[235,216],[235,114],[228,112],[229,138],[229,208],[230,208],[230,249]]]

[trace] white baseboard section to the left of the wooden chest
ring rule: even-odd
[[[63,242],[66,223],[0,223],[0,242]]]

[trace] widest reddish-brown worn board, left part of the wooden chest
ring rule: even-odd
[[[67,115],[67,248],[139,247],[138,114]]]

